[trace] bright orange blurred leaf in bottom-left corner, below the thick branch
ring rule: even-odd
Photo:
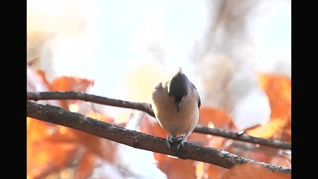
[[[42,178],[63,168],[75,157],[78,143],[52,140],[59,136],[61,126],[27,117],[27,177]]]

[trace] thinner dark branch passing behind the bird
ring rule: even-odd
[[[154,115],[154,111],[152,110],[149,103],[146,102],[130,102],[123,101],[118,99],[111,99],[107,97],[101,97],[93,94],[88,94],[85,92],[75,92],[75,91],[48,91],[48,92],[27,92],[28,100],[47,100],[47,99],[79,99],[99,104],[105,104],[110,106],[138,109],[144,111],[151,116]],[[225,130],[225,129],[217,129],[210,128],[206,126],[197,125],[194,129],[194,132],[199,132],[203,134],[211,134],[221,137],[226,137],[229,139],[250,142],[255,144],[260,144],[264,146],[270,146],[281,149],[292,149],[292,144],[290,142],[283,142],[279,140],[270,140],[270,139],[262,139],[257,137],[252,137],[247,134],[239,135],[237,132]]]

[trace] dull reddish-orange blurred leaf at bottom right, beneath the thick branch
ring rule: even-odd
[[[220,179],[291,179],[291,174],[271,172],[259,164],[245,163],[236,165]]]

